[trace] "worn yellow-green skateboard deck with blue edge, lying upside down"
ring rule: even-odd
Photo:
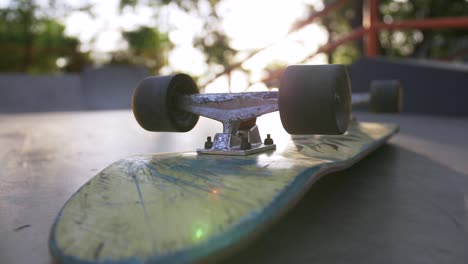
[[[50,250],[63,263],[219,259],[261,233],[320,177],[352,166],[398,129],[352,122],[343,135],[292,136],[284,150],[249,156],[122,159],[67,201]]]

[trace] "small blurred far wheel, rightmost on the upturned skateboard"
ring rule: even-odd
[[[372,81],[370,110],[377,113],[399,113],[402,108],[402,87],[398,80]]]

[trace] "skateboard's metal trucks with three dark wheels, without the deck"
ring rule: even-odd
[[[339,135],[348,129],[351,104],[370,102],[372,108],[374,102],[375,111],[381,112],[399,109],[399,83],[374,86],[370,95],[352,99],[343,65],[288,66],[279,92],[199,94],[190,76],[174,74],[141,81],[132,105],[137,122],[149,131],[187,132],[199,116],[217,120],[223,132],[216,133],[213,141],[209,138],[197,153],[249,155],[276,148],[270,138],[261,140],[256,118],[263,114],[279,111],[289,134]]]

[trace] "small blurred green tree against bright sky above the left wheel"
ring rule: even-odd
[[[110,64],[143,65],[153,74],[167,64],[166,56],[173,48],[166,33],[156,28],[140,27],[133,31],[122,32],[128,49],[113,54]]]

